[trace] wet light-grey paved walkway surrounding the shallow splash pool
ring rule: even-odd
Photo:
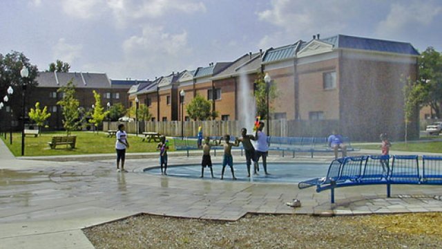
[[[372,151],[361,151],[370,154]],[[377,153],[378,151],[376,151]],[[142,158],[140,158],[142,157]],[[78,158],[15,158],[0,141],[0,248],[93,248],[81,228],[140,212],[235,221],[247,212],[263,214],[385,214],[442,212],[440,186],[347,187],[329,192],[296,185],[201,180],[145,174],[157,154],[128,155],[129,173],[115,171],[113,155]],[[90,161],[93,158],[93,161]],[[59,162],[56,160],[66,160]],[[315,156],[329,162],[331,156]],[[220,162],[219,156],[213,158]],[[238,156],[238,160],[239,156]],[[238,161],[237,160],[237,161]],[[270,161],[309,161],[272,156]],[[170,164],[200,163],[200,154],[169,154]],[[215,168],[218,170],[218,168]],[[269,168],[271,172],[271,168]],[[297,198],[301,208],[285,202]]]

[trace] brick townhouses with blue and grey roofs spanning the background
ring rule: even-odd
[[[271,102],[272,119],[338,120],[341,131],[356,139],[356,134],[363,134],[363,138],[381,132],[400,138],[405,129],[403,79],[416,80],[418,56],[406,42],[315,35],[308,42],[298,40],[155,80],[109,80],[105,73],[41,72],[27,107],[37,101],[48,106],[54,113],[50,127],[61,129],[61,110],[56,105],[61,96],[56,92],[72,79],[80,105],[86,109],[94,102],[95,89],[104,106],[121,102],[132,107],[137,98],[148,106],[153,121],[189,120],[186,104],[200,94],[213,100],[218,119],[240,120],[244,109],[239,104],[240,81],[245,79],[253,89],[258,73],[268,73],[278,89],[278,98]],[[184,100],[180,91],[185,93]],[[418,133],[418,125],[412,122],[409,133]]]

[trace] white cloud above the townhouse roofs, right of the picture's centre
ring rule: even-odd
[[[348,28],[352,19],[363,15],[363,6],[353,0],[273,0],[258,19],[274,26],[258,46],[268,48],[311,39],[316,33],[338,34]]]

